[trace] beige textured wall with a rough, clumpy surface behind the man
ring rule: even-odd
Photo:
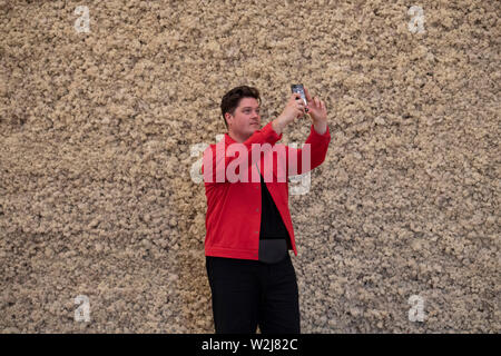
[[[0,0],[0,332],[213,332],[191,149],[293,82],[332,132],[289,201],[303,332],[501,332],[500,8]]]

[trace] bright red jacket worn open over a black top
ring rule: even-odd
[[[291,172],[292,176],[301,175],[320,166],[327,154],[331,134],[327,126],[324,135],[318,135],[312,125],[305,146],[301,149],[275,145],[281,138],[282,134],[278,136],[269,122],[256,130],[244,144],[236,142],[225,134],[219,142],[210,145],[204,151],[202,171],[207,196],[206,256],[258,259],[262,207],[259,172],[284,220],[297,256],[288,210],[288,182],[285,178]]]

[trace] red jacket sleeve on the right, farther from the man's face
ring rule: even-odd
[[[331,132],[328,130],[328,125],[323,135],[316,132],[312,125],[310,136],[303,148],[296,149],[286,146],[287,176],[302,175],[318,167],[325,160],[330,142]]]

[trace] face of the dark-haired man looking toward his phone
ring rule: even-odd
[[[245,141],[261,129],[259,102],[254,98],[242,98],[235,115],[226,113],[228,131],[235,140]]]

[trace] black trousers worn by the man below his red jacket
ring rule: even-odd
[[[297,281],[291,256],[273,265],[206,257],[217,334],[299,334]]]

